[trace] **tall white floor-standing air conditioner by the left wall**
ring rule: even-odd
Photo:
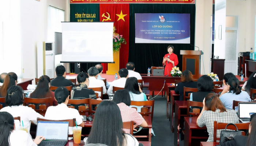
[[[37,77],[54,78],[54,43],[37,42]]]

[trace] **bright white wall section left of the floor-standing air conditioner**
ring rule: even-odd
[[[37,42],[48,40],[48,6],[65,10],[69,21],[69,0],[20,0],[23,78],[37,77]],[[67,11],[68,10],[68,11]]]

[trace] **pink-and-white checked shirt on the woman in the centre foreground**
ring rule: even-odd
[[[142,124],[144,118],[140,115],[135,108],[130,108],[124,103],[118,103],[117,106],[120,108],[123,122],[133,121],[137,125]],[[125,133],[130,134],[129,129],[123,129]]]

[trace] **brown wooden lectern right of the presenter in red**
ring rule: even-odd
[[[182,72],[189,70],[193,74],[193,78],[197,79],[201,76],[201,55],[202,51],[180,50],[182,55]]]

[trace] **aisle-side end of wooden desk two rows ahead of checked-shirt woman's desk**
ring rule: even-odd
[[[167,98],[168,99],[168,98]],[[174,101],[175,100],[179,100],[180,99],[180,95],[176,94],[174,92],[174,90],[170,91],[170,95],[169,95],[169,103],[167,101],[167,106],[168,104],[170,104],[170,115],[169,115],[169,121],[170,121],[170,128],[172,129],[172,132],[174,132],[174,128],[173,128],[173,121],[174,121],[174,117],[173,117],[173,113],[174,113]]]

